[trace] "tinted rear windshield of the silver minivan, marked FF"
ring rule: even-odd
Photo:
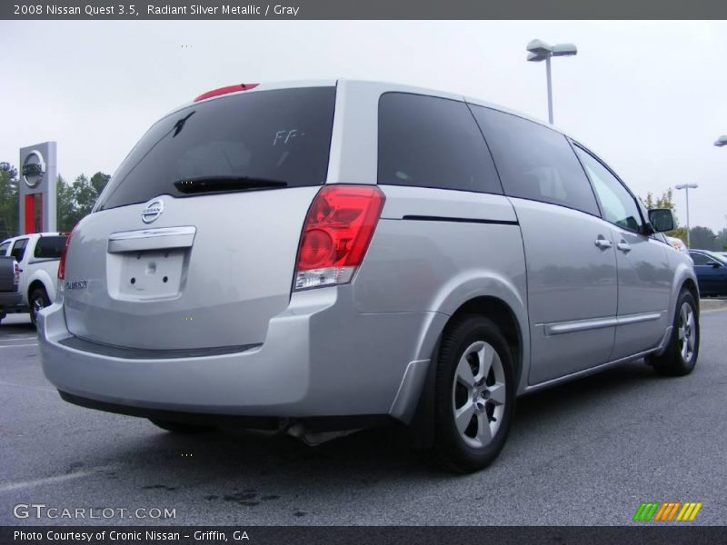
[[[325,183],[335,87],[223,96],[152,126],[101,194],[97,209],[181,193],[175,182],[245,178],[287,187]]]

